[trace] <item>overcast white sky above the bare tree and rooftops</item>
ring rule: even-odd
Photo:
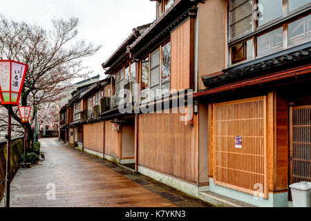
[[[50,28],[50,19],[79,17],[79,38],[101,44],[93,57],[83,59],[92,76],[104,76],[101,64],[122,44],[132,29],[156,18],[155,2],[149,0],[1,0],[0,14],[15,21]]]

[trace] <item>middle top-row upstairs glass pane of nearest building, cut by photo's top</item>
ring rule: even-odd
[[[262,26],[283,15],[283,0],[258,0],[261,18],[258,20],[258,26]]]

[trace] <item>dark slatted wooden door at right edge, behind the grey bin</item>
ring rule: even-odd
[[[311,182],[311,105],[290,107],[290,184]]]

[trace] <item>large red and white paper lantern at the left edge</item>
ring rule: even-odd
[[[27,68],[27,64],[17,61],[0,60],[1,104],[19,105]]]

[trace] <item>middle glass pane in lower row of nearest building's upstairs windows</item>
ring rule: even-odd
[[[283,49],[283,27],[257,37],[257,57]]]

